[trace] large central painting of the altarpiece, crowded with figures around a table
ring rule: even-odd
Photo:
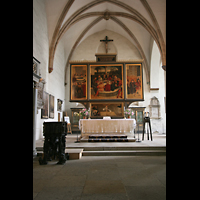
[[[123,65],[90,65],[90,99],[123,99]]]

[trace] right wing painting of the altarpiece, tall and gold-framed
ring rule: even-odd
[[[126,64],[126,99],[144,100],[141,64]]]

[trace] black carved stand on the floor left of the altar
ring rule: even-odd
[[[43,136],[43,159],[40,157],[40,165],[46,165],[52,158],[58,157],[57,164],[64,164],[65,157],[65,136],[67,135],[67,122],[44,122]]]

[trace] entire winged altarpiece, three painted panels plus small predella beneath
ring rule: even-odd
[[[92,118],[122,118],[124,107],[144,101],[142,62],[70,61],[70,74],[70,102],[82,103]]]

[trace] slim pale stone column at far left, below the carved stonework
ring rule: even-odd
[[[33,82],[33,156],[37,155],[35,148],[36,141],[36,121],[37,121],[37,88],[36,82]]]

